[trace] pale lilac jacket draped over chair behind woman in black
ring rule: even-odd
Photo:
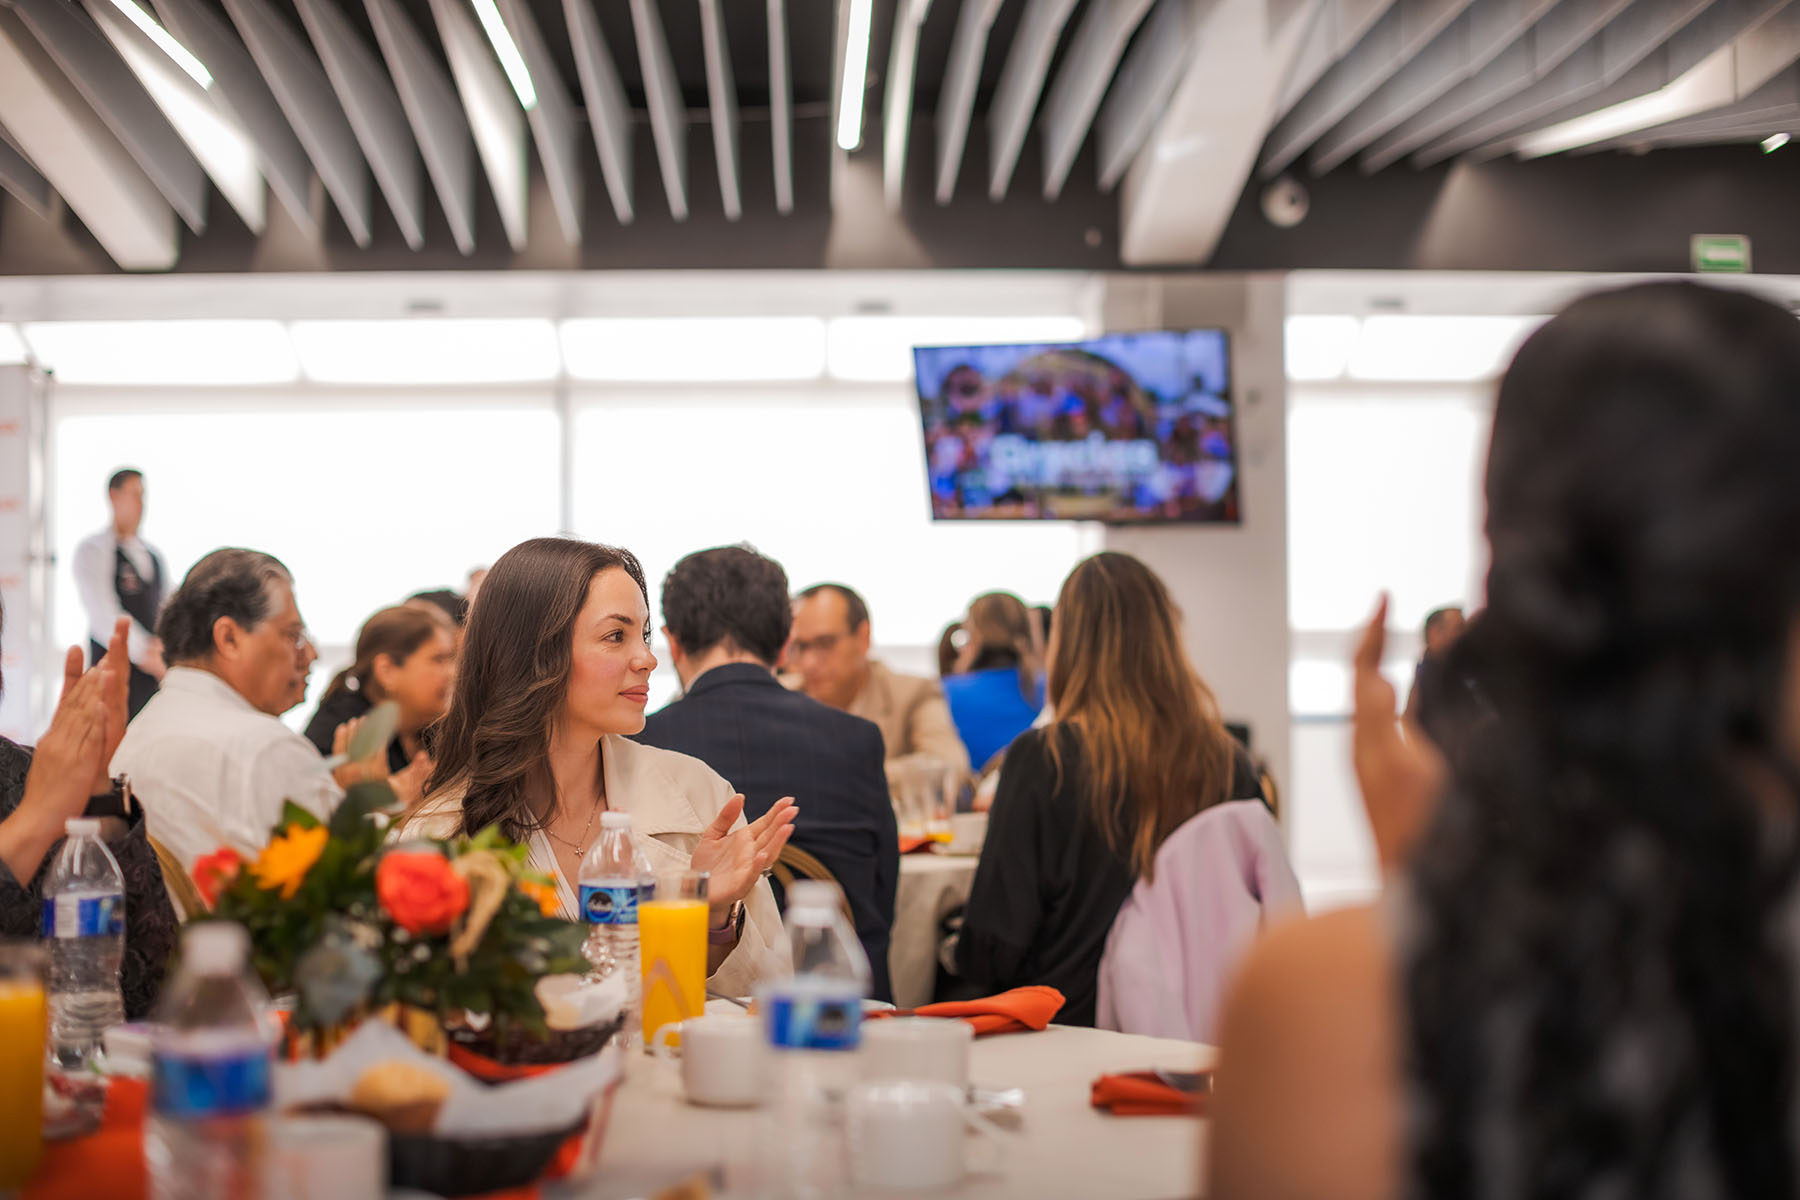
[[[1217,1033],[1226,982],[1269,921],[1303,912],[1282,831],[1260,799],[1215,804],[1156,851],[1100,959],[1096,1025],[1183,1042]]]

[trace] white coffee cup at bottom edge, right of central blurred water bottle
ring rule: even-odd
[[[859,1083],[844,1096],[850,1173],[862,1187],[949,1187],[968,1169],[965,1132],[1003,1133],[972,1112],[963,1088],[922,1079]]]

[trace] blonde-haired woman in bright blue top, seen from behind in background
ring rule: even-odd
[[[950,720],[979,774],[1044,707],[1042,635],[1012,592],[988,592],[968,604],[963,644],[943,676]]]

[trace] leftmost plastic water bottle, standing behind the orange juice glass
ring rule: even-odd
[[[124,874],[101,840],[101,822],[68,820],[68,838],[43,887],[50,943],[50,1061],[85,1070],[106,1029],[124,1022]]]

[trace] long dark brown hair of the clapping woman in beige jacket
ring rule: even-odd
[[[427,804],[466,784],[463,831],[491,824],[509,838],[545,828],[533,797],[554,795],[551,732],[569,693],[574,619],[594,576],[625,570],[650,604],[630,551],[576,538],[520,542],[488,570],[463,631],[450,711],[439,725]]]

